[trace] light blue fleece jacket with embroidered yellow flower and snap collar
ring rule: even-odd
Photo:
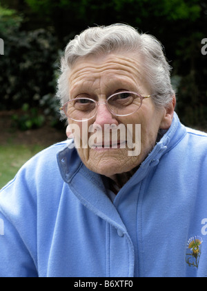
[[[0,276],[207,276],[207,135],[177,114],[110,200],[67,142],[0,192]]]

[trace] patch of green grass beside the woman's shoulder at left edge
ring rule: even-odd
[[[28,159],[41,150],[41,145],[0,145],[0,189],[14,178]]]

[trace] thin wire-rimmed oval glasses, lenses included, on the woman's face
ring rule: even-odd
[[[151,95],[142,96],[131,91],[121,91],[112,94],[105,102],[98,102],[88,97],[78,97],[69,100],[60,110],[73,121],[86,121],[94,118],[99,105],[106,105],[111,114],[115,116],[128,116],[134,114],[141,107],[142,101]]]

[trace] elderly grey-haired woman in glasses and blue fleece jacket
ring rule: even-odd
[[[207,276],[207,135],[179,122],[157,39],[88,28],[58,96],[73,139],[1,191],[0,276]]]

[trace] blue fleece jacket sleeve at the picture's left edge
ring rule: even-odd
[[[37,277],[35,200],[21,170],[0,191],[0,277]]]

